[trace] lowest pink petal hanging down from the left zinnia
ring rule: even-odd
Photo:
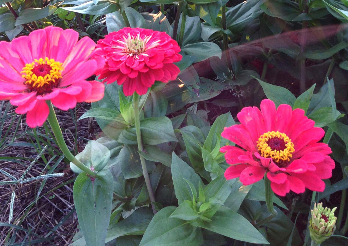
[[[45,123],[49,108],[45,101],[37,100],[35,107],[26,114],[26,123],[29,127],[35,128]]]

